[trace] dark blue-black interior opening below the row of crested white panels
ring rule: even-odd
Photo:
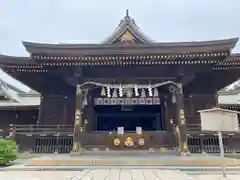
[[[137,106],[95,106],[97,113],[97,131],[117,131],[118,127],[124,127],[124,131],[136,131],[136,127],[142,127],[145,131],[157,130],[157,116],[160,114],[160,105]],[[162,129],[160,123],[160,130]]]

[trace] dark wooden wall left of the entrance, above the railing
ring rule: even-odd
[[[67,84],[61,77],[50,74],[44,79],[41,94],[40,124],[73,124],[76,87]]]

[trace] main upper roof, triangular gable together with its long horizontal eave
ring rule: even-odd
[[[97,44],[44,44],[23,41],[32,55],[42,56],[111,56],[111,55],[166,55],[185,53],[217,53],[231,51],[238,38],[192,41],[154,42],[141,32],[128,10],[120,24],[106,40]]]

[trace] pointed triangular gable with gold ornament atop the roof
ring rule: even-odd
[[[117,42],[154,43],[152,39],[140,30],[134,19],[129,16],[128,9],[126,10],[124,19],[120,21],[116,30],[102,44],[114,44]]]

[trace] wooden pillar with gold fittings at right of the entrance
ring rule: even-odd
[[[187,135],[186,135],[186,121],[185,121],[185,115],[184,115],[184,101],[183,101],[184,95],[182,90],[182,84],[177,84],[176,89],[176,119],[177,124],[179,128],[179,148],[181,152],[188,152],[188,144],[187,144]]]

